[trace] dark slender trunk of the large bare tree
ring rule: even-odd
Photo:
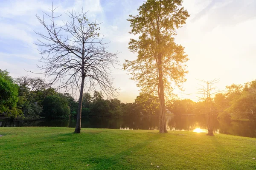
[[[80,95],[78,100],[78,111],[77,111],[77,119],[76,119],[76,129],[74,133],[80,133],[81,131],[81,112],[82,112],[82,102],[83,102],[83,93],[84,93],[84,79],[85,77],[82,76],[82,82],[81,82],[81,89],[80,89]]]

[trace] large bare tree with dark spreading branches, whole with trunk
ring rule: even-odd
[[[57,7],[58,8],[58,7]],[[65,13],[69,22],[63,22],[62,26],[56,23],[54,11],[51,14],[44,13],[49,17],[47,24],[45,17],[38,17],[38,21],[44,26],[46,33],[35,32],[42,39],[36,43],[41,46],[40,54],[42,62],[38,68],[43,70],[50,85],[58,84],[58,89],[76,92],[80,89],[79,108],[75,133],[81,130],[81,107],[84,89],[95,91],[99,88],[106,96],[113,96],[118,90],[113,87],[111,69],[118,63],[117,54],[111,53],[105,46],[98,31],[99,24],[89,22],[84,10]]]

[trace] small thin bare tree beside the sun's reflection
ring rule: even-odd
[[[205,107],[205,113],[207,117],[207,129],[208,133],[207,135],[213,136],[213,128],[215,125],[215,115],[216,111],[214,109],[213,105],[213,97],[215,94],[221,92],[216,87],[215,84],[219,82],[218,79],[214,79],[212,81],[205,81],[205,80],[199,80],[204,83],[204,85],[200,85],[201,88],[198,88],[198,94],[201,94],[202,96],[199,96],[199,99],[204,102]]]

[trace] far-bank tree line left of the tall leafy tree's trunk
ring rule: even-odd
[[[77,116],[79,102],[75,96],[49,88],[44,79],[13,79],[0,70],[0,114],[11,119],[63,119]],[[140,94],[133,103],[104,99],[102,92],[83,94],[81,116],[159,115],[157,97]]]

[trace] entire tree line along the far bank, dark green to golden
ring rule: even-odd
[[[0,70],[0,113],[12,119],[62,119],[77,116],[78,101],[68,93],[49,88],[44,79],[18,77]],[[256,121],[256,80],[244,85],[232,84],[212,99],[214,115],[225,120]],[[102,92],[83,94],[82,116],[159,116],[157,96],[140,94],[134,102],[104,99]],[[205,115],[204,101],[173,99],[166,102],[166,112],[176,116]]]

